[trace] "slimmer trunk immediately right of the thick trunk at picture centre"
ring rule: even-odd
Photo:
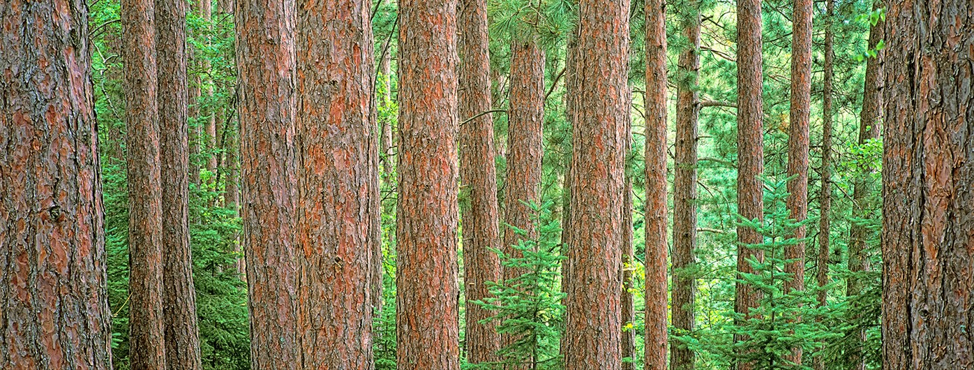
[[[491,109],[487,1],[460,5],[460,119]],[[480,321],[495,313],[473,301],[490,297],[487,281],[501,278],[501,262],[491,249],[501,247],[498,225],[494,121],[483,115],[460,127],[461,211],[464,221],[464,283],[467,284],[467,356],[469,363],[496,361],[501,349],[497,323]]]

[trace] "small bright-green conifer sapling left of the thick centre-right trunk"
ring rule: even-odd
[[[558,328],[565,311],[561,304],[564,293],[559,284],[560,262],[564,259],[558,255],[561,227],[557,219],[551,217],[550,208],[554,203],[525,204],[534,211],[537,236],[529,236],[524,230],[507,225],[509,231],[526,239],[512,245],[518,253],[507,254],[494,249],[505,269],[524,273],[503,282],[488,282],[492,297],[474,301],[496,313],[485,321],[498,321],[498,333],[513,338],[509,345],[498,351],[501,360],[483,364],[485,368],[505,364],[548,369],[560,365]]]

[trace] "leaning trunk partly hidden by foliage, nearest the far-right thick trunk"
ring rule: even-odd
[[[881,1],[873,4],[873,8],[883,7]],[[885,21],[880,19],[869,29],[869,49],[876,51],[876,57],[870,57],[866,61],[866,83],[862,94],[862,111],[859,116],[859,139],[858,144],[865,145],[869,140],[880,137],[880,123],[882,120],[882,94],[883,94],[883,56],[884,50],[877,50],[877,45],[884,35]],[[858,168],[859,174],[853,181],[852,187],[852,217],[867,218],[875,212],[876,203],[873,199],[873,173],[875,166],[862,166]],[[852,274],[858,274],[870,269],[869,257],[866,253],[867,242],[870,239],[870,232],[860,223],[853,222],[849,226],[848,244],[848,269]],[[846,294],[848,297],[858,296],[862,292],[863,281],[857,277],[850,277],[846,281]],[[866,340],[865,328],[859,329],[856,333],[860,343]],[[862,355],[861,346],[853,346],[848,351],[847,360],[855,364],[854,369],[865,370],[866,362]]]

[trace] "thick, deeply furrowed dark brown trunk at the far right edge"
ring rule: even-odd
[[[882,368],[974,368],[974,11],[886,9]]]

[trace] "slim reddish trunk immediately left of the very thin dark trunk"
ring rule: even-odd
[[[791,112],[788,126],[788,210],[802,222],[808,216],[808,121],[811,112],[811,0],[794,0],[792,21]],[[785,292],[805,289],[805,225],[794,231],[799,242],[785,247]],[[798,320],[802,318],[799,317]],[[792,349],[786,359],[801,365],[802,348]]]

